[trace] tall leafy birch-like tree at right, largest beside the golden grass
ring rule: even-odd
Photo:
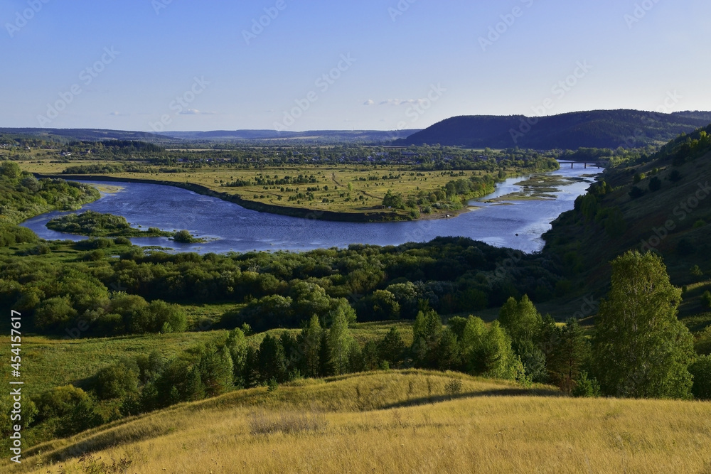
[[[693,339],[676,316],[681,290],[652,252],[627,252],[611,263],[611,289],[600,304],[593,345],[602,392],[690,397]]]

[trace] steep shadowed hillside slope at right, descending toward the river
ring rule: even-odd
[[[688,139],[680,137],[655,156],[606,171],[600,179],[609,186],[597,195],[597,208],[577,203],[553,222],[544,235],[544,252],[565,262],[577,286],[602,295],[611,259],[629,249],[651,249],[663,257],[672,283],[688,290],[682,315],[708,311],[700,296],[711,289],[711,147],[689,150]],[[633,198],[633,188],[643,194]],[[617,225],[611,225],[612,214]],[[691,270],[695,265],[700,274]]]

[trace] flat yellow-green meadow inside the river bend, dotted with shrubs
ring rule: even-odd
[[[50,156],[57,158],[56,156]],[[33,156],[33,158],[38,158]],[[69,166],[113,163],[73,159],[70,163],[51,163],[46,156],[18,162],[21,168],[43,175],[60,175]],[[165,183],[191,183],[214,193],[235,196],[247,203],[277,206],[308,212],[333,212],[346,215],[370,215],[374,220],[410,219],[411,209],[383,208],[388,190],[412,199],[422,217],[453,215],[456,209],[440,206],[441,196],[434,195],[449,181],[471,176],[483,176],[486,171],[414,171],[410,166],[396,165],[301,165],[272,166],[264,169],[240,168],[232,163],[220,163],[181,173],[161,172],[160,166],[141,163],[148,173],[109,173],[102,176],[127,180],[151,180]],[[509,176],[523,174],[518,168],[506,170]],[[496,171],[498,175],[498,170]],[[87,175],[86,179],[97,175]],[[228,186],[230,183],[239,186]],[[489,191],[491,192],[491,191]],[[425,198],[426,202],[422,200]],[[419,204],[417,202],[419,201]]]

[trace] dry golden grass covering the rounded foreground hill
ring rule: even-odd
[[[129,473],[711,473],[711,403],[377,372],[175,406],[46,443],[23,468],[83,473],[82,451]]]

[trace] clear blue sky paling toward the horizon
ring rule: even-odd
[[[711,110],[707,0],[0,0],[0,126]]]

